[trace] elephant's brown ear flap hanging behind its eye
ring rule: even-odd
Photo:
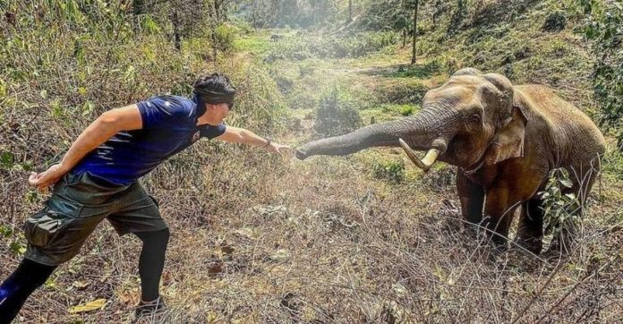
[[[525,125],[528,119],[520,107],[513,106],[513,115],[495,134],[484,153],[484,163],[493,165],[508,158],[524,157]]]

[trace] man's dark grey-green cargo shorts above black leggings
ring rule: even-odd
[[[139,183],[114,186],[88,173],[67,174],[46,207],[26,220],[26,259],[49,266],[71,260],[102,219],[120,234],[165,229],[157,201]]]

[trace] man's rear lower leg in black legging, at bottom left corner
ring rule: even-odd
[[[10,323],[26,299],[52,275],[56,266],[21,260],[20,266],[0,286],[0,323]]]

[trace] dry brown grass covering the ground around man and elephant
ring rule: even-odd
[[[514,244],[496,252],[482,233],[465,230],[451,186],[374,180],[360,160],[299,162],[202,143],[161,166],[145,184],[172,227],[162,287],[171,310],[154,320],[620,320],[620,201],[593,201],[580,243],[564,258]],[[18,258],[0,246],[4,277]],[[100,226],[18,322],[127,320],[139,298],[139,248]],[[67,313],[97,298],[107,299],[104,310]]]

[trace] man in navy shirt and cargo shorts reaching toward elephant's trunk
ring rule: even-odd
[[[195,82],[193,98],[159,96],[100,115],[73,142],[63,160],[29,183],[55,184],[45,209],[28,218],[28,249],[19,267],[0,286],[0,323],[14,319],[22,304],[56,267],[75,256],[89,234],[107,218],[120,235],[142,241],[141,303],[135,316],[164,308],[158,286],[169,230],[158,204],[137,180],[201,137],[247,143],[279,153],[287,146],[247,130],[225,126],[235,88],[223,74]]]

